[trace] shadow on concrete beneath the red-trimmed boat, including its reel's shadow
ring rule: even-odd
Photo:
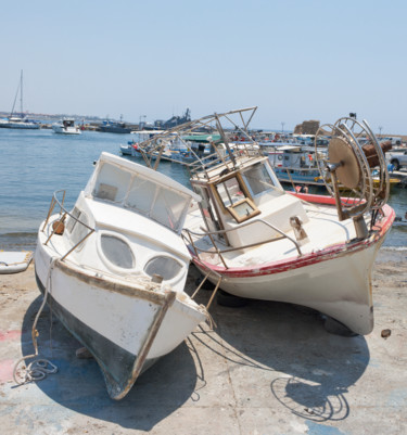
[[[250,300],[239,308],[214,304],[211,311],[216,334],[202,329],[192,335],[228,360],[238,396],[247,394],[239,392],[244,385],[239,369],[249,367],[252,374],[246,383],[263,388],[259,397],[269,397],[263,406],[276,407],[275,398],[293,414],[316,422],[348,417],[346,393],[370,360],[364,336],[330,334],[319,312],[291,304]]]

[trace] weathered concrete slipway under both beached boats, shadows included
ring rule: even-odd
[[[371,334],[329,334],[318,314],[288,304],[214,303],[217,328],[200,325],[120,401],[109,398],[96,361],[76,357],[80,345],[49,308],[39,353],[59,371],[16,386],[13,367],[34,351],[41,296],[33,265],[0,276],[0,434],[406,434],[406,254],[379,256]],[[193,269],[191,291],[195,278]]]

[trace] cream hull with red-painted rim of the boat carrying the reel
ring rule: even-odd
[[[385,216],[367,240],[281,261],[227,269],[200,260],[190,252],[201,272],[215,271],[221,277],[220,287],[232,295],[314,308],[366,335],[373,329],[372,267],[394,220],[394,210],[389,206],[384,210]],[[208,279],[216,284],[216,278]]]

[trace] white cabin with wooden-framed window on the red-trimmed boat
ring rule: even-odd
[[[206,229],[234,247],[264,243],[292,231],[291,218],[308,217],[301,201],[281,188],[267,157],[252,158],[234,169],[220,166],[207,178],[193,177]]]

